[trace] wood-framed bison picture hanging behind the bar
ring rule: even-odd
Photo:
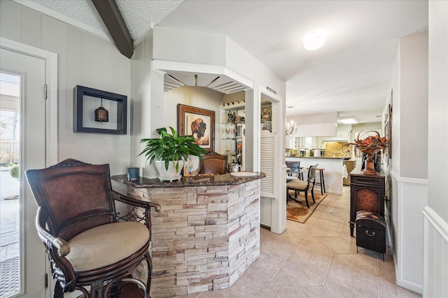
[[[205,151],[214,151],[215,112],[189,105],[177,105],[177,131],[179,135],[193,135]]]

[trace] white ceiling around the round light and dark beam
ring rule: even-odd
[[[109,35],[90,0],[11,1]],[[288,116],[337,111],[380,121],[400,38],[428,30],[428,0],[116,1],[134,42],[155,25],[235,40],[286,81]],[[317,28],[328,31],[325,45],[304,50],[302,36]]]

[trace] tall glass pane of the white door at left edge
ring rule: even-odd
[[[0,297],[20,292],[20,76],[0,73]]]

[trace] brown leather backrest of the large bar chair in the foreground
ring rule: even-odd
[[[109,165],[68,159],[42,170],[27,170],[39,207],[48,213],[48,230],[66,241],[80,232],[116,221]]]

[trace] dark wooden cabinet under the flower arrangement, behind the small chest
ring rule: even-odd
[[[356,212],[372,211],[384,217],[386,179],[383,172],[377,175],[361,174],[358,170],[350,174],[350,235],[353,236]]]

